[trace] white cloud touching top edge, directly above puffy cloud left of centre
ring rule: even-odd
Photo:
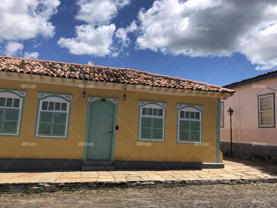
[[[128,5],[130,0],[79,0],[76,18],[91,25],[109,24],[118,10]]]

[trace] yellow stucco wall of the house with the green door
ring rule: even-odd
[[[34,84],[36,88],[21,88],[22,84]],[[46,83],[27,83],[0,79],[1,89],[25,90],[25,106],[21,137],[0,136],[0,158],[38,159],[83,159],[87,117],[87,97],[82,97],[82,88]],[[34,138],[38,92],[71,94],[72,103],[68,139]],[[216,99],[200,96],[172,96],[126,91],[123,101],[122,90],[86,89],[87,96],[118,98],[118,118],[115,143],[115,160],[130,161],[216,161]],[[137,146],[139,100],[166,102],[165,142]],[[202,142],[209,146],[176,143],[177,103],[203,105]],[[36,146],[21,146],[21,142],[35,142]]]

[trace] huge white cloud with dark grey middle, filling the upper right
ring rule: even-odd
[[[242,53],[257,70],[277,66],[277,2],[157,0],[141,9],[138,49],[175,55]]]

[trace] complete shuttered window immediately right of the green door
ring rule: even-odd
[[[139,101],[139,140],[164,141],[166,103]]]

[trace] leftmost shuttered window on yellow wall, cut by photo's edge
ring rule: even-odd
[[[0,89],[0,135],[19,136],[25,91]]]

